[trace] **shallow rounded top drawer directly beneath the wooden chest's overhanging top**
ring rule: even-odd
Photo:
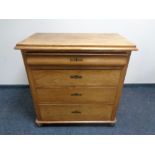
[[[49,55],[46,53],[26,57],[28,65],[82,65],[82,66],[122,66],[127,63],[126,54],[112,55]]]

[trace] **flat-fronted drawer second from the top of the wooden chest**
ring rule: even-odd
[[[32,70],[36,88],[117,86],[121,70]]]

